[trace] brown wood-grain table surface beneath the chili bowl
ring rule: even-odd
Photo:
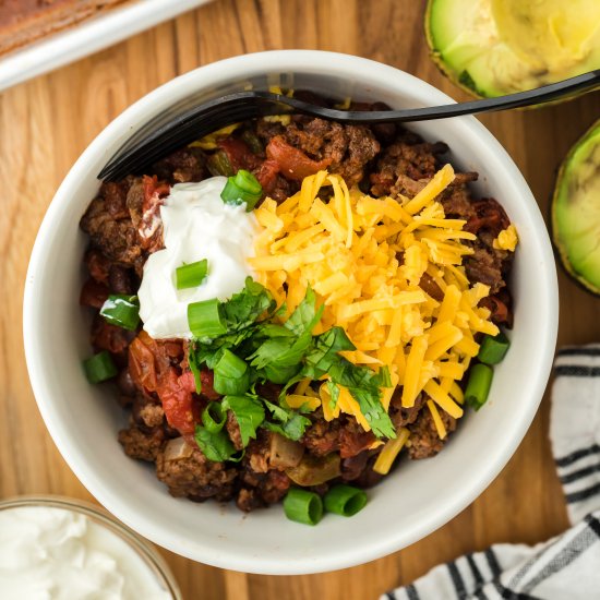
[[[48,435],[28,384],[21,311],[29,252],[60,181],[94,136],[171,77],[223,58],[319,48],[375,59],[456,99],[464,94],[428,57],[424,2],[217,0],[93,57],[0,94],[0,497],[51,493],[93,500]],[[561,106],[483,117],[548,213],[554,171],[598,118],[598,94]],[[559,273],[560,344],[600,339],[599,300]],[[420,542],[367,565],[299,577],[245,575],[167,551],[185,599],[365,599],[435,564],[493,542],[535,543],[566,514],[548,442],[549,398],[501,476],[471,506]]]

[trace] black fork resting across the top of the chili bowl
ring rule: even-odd
[[[237,92],[175,117],[132,147],[122,146],[100,171],[98,179],[116,181],[130,173],[143,172],[160,158],[208,133],[257,117],[296,112],[352,124],[428,121],[549,103],[599,86],[600,70],[596,70],[508,96],[425,108],[372,111],[326,108],[269,92]]]

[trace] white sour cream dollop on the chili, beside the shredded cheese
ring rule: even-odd
[[[140,316],[155,339],[191,338],[188,304],[218,298],[228,300],[253,276],[247,259],[254,255],[256,217],[245,204],[225,204],[225,177],[200,183],[177,183],[160,207],[165,249],[144,265]],[[178,290],[176,269],[207,259],[208,275],[196,288]]]

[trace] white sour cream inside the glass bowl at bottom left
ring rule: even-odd
[[[57,507],[0,512],[2,600],[169,600],[151,567],[117,533]]]

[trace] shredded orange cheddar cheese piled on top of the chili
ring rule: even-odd
[[[382,391],[385,410],[395,393],[405,408],[427,394],[440,437],[446,431],[439,409],[454,418],[463,415],[457,382],[479,351],[477,334],[499,333],[490,311],[478,305],[489,287],[471,286],[463,266],[464,257],[473,253],[468,242],[476,236],[464,230],[465,220],[446,219],[436,201],[453,180],[446,165],[412,199],[375,199],[348,189],[339,176],[320,171],[281,204],[266,199],[255,211],[263,230],[249,261],[257,280],[286,303],[288,315],[311,286],[324,307],[314,334],[341,326],[356,346],[344,352],[350,362],[388,368],[392,387]],[[514,227],[502,233],[499,243],[514,250]],[[429,284],[421,287],[425,276]],[[428,293],[432,286],[439,288],[433,293],[439,300]],[[309,382],[300,382],[288,404],[301,406],[307,389]],[[322,384],[319,400],[326,420],[343,411],[370,430],[347,389],[339,388],[334,407]],[[387,472],[408,436],[401,444],[400,439],[382,451],[379,472]]]

